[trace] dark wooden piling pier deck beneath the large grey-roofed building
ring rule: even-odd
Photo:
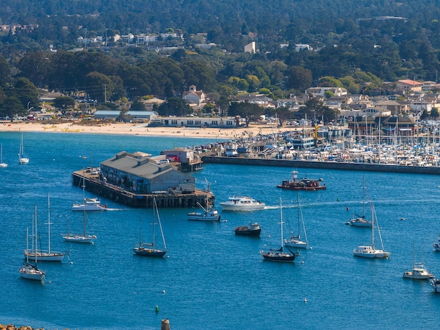
[[[195,189],[194,193],[152,193],[140,194],[122,189],[120,186],[108,184],[100,179],[99,174],[91,174],[82,170],[72,173],[72,184],[82,186],[84,179],[84,188],[86,191],[95,193],[134,208],[153,208],[153,201],[156,200],[159,208],[193,208],[200,205],[206,206],[206,203],[214,205],[215,196],[211,191]]]

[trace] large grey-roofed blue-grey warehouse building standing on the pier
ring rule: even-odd
[[[194,193],[195,178],[179,172],[170,163],[158,164],[147,153],[121,151],[101,163],[101,176],[113,184],[136,193]]]

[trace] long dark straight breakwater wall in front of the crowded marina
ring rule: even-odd
[[[325,161],[308,160],[286,160],[286,159],[263,159],[263,158],[244,158],[244,157],[222,157],[204,156],[204,163],[224,164],[224,165],[259,165],[259,166],[278,166],[278,167],[306,167],[323,168],[327,170],[351,170],[367,172],[392,172],[392,173],[412,173],[412,174],[440,174],[440,167],[420,167],[402,165],[383,165],[369,163],[339,163]]]

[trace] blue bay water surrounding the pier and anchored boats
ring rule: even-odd
[[[206,164],[200,188],[210,182],[216,204],[242,194],[266,202],[257,212],[222,212],[224,222],[191,222],[189,209],[162,209],[169,258],[134,255],[139,220],[148,235],[151,210],[112,201],[108,212],[88,215],[94,245],[67,243],[67,229],[82,230],[82,215],[70,206],[82,192],[71,172],[115,153],[202,144],[207,139],[25,133],[28,165],[18,165],[20,135],[1,133],[0,323],[45,329],[434,329],[440,294],[427,281],[403,279],[403,270],[423,260],[440,276],[440,253],[432,243],[440,232],[440,178],[434,175],[300,169],[323,177],[326,191],[300,191],[313,249],[295,263],[263,261],[259,250],[280,244],[279,198],[285,232],[296,228],[297,193],[277,189],[290,177],[285,167]],[[80,156],[87,156],[84,160]],[[389,260],[354,258],[370,243],[370,229],[344,223],[362,212],[363,175],[382,227]],[[26,227],[39,210],[41,244],[46,244],[47,194],[51,195],[52,250],[70,251],[62,263],[45,262],[46,282],[21,279]],[[347,210],[347,207],[349,210]],[[221,210],[221,208],[219,208]],[[405,220],[401,220],[404,218]],[[235,236],[233,229],[257,221],[261,238]],[[306,303],[304,299],[306,298]],[[160,312],[155,312],[155,306]]]

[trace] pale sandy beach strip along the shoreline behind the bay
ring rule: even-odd
[[[252,134],[274,134],[276,132],[292,131],[296,127],[275,127],[275,125],[251,124],[249,127],[234,129],[199,128],[199,127],[148,127],[145,123],[119,122],[56,122],[44,123],[39,121],[2,122],[0,132],[56,132],[78,134],[124,134],[164,137],[200,137],[213,139],[233,139],[249,137]]]

